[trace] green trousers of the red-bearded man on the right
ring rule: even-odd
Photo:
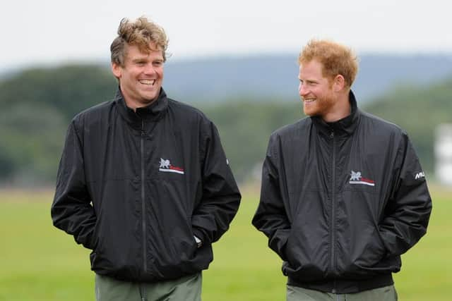
[[[287,301],[397,301],[394,285],[352,294],[323,293],[287,285]]]

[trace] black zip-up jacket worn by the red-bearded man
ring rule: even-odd
[[[400,254],[426,233],[432,200],[407,134],[359,111],[275,131],[253,224],[288,284],[356,293],[393,283]]]

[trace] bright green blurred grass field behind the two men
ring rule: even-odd
[[[399,300],[451,300],[452,192],[432,189],[434,210],[427,235],[395,275]],[[94,300],[89,250],[52,226],[52,192],[0,191],[0,300]],[[244,199],[230,231],[214,245],[203,273],[204,301],[285,300],[280,259],[251,226],[258,199]]]

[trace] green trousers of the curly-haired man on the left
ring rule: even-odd
[[[95,276],[97,301],[201,301],[201,272],[173,281],[133,283]]]

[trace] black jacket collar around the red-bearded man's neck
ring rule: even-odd
[[[336,136],[352,135],[358,124],[359,116],[361,115],[357,108],[355,94],[353,94],[352,90],[350,90],[349,102],[352,109],[350,115],[338,121],[326,123],[321,117],[312,116],[311,121],[314,123],[316,129],[325,135],[331,135],[332,132],[334,132]]]

